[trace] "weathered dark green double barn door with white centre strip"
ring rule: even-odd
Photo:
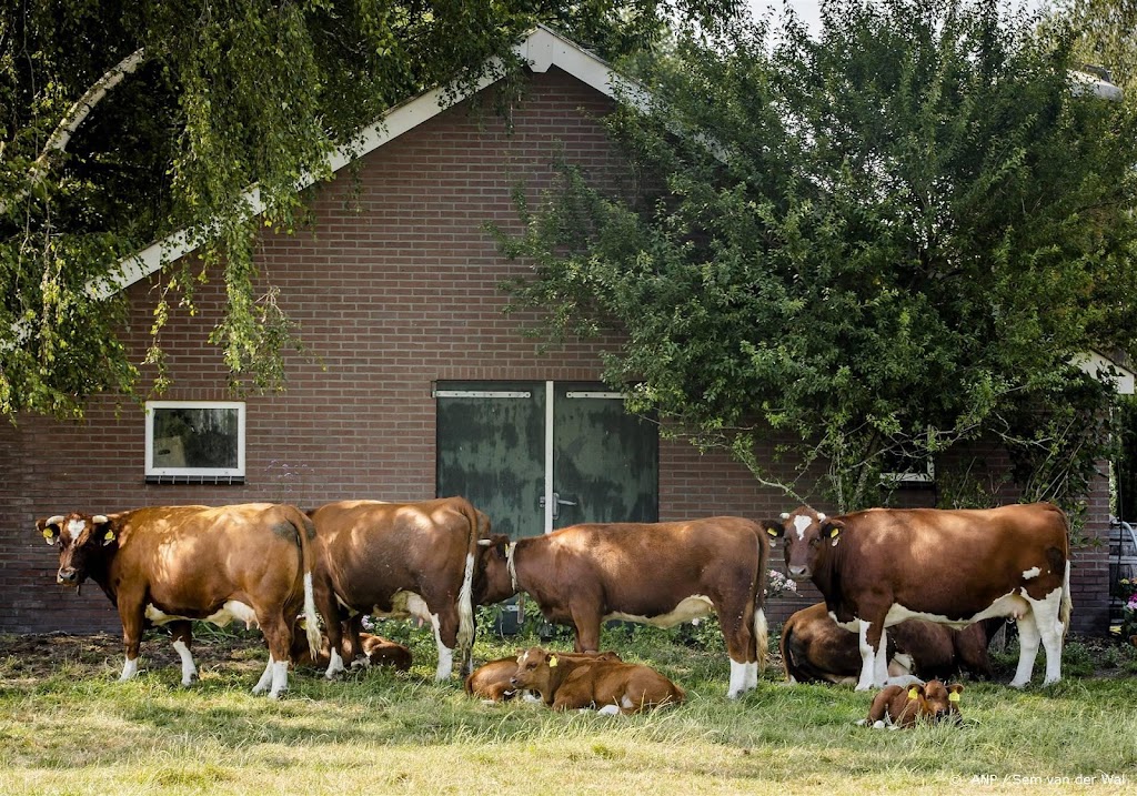
[[[437,494],[512,539],[579,522],[656,522],[656,424],[591,382],[440,381]]]

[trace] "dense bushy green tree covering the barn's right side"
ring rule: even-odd
[[[1135,342],[1137,136],[1036,23],[830,0],[816,40],[686,33],[611,122],[649,188],[563,168],[522,202],[514,305],[538,334],[622,333],[605,378],[633,409],[789,495],[821,467],[840,508],[877,504],[897,459],[994,440],[1027,497],[1069,500],[1111,392],[1070,360]]]

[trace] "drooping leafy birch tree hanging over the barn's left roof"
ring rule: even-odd
[[[297,181],[421,90],[476,80],[538,22],[608,55],[647,47],[673,15],[735,0],[14,0],[0,10],[0,413],[81,414],[136,388],[98,290],[121,258],[184,227],[229,306],[214,341],[234,382],[279,387],[296,342],[258,280],[244,191],[264,222],[298,218]],[[201,274],[172,268],[171,302]],[[89,290],[94,285],[94,290]],[[156,316],[157,330],[169,306]],[[161,384],[159,383],[159,387]]]

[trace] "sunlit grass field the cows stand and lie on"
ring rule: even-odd
[[[429,633],[380,632],[410,645],[409,672],[325,682],[306,670],[280,702],[250,694],[257,638],[201,639],[201,679],[185,689],[158,635],[128,683],[115,682],[117,639],[0,637],[0,794],[1137,793],[1137,650],[1105,642],[1070,641],[1051,688],[963,680],[962,727],[891,732],[854,724],[870,695],[787,686],[777,664],[728,700],[721,640],[706,632],[606,631],[607,648],[688,691],[679,707],[616,718],[484,705],[457,677],[431,681]],[[475,656],[537,642],[481,633]],[[1003,682],[1013,655],[998,658]]]

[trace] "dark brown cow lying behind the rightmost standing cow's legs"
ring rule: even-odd
[[[888,674],[913,673],[945,678],[968,670],[994,677],[987,655],[989,635],[1003,625],[988,619],[962,630],[908,620],[888,631]],[[802,608],[786,620],[779,641],[786,679],[790,682],[855,683],[861,674],[857,637],[839,627],[824,603]]]

